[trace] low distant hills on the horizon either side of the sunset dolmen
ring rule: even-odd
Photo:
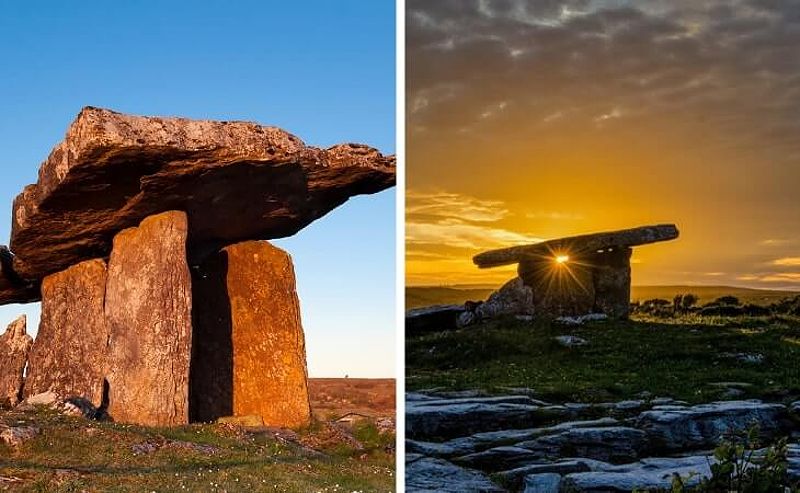
[[[409,286],[406,288],[406,309],[485,300],[497,287],[486,284]],[[700,304],[728,295],[736,296],[742,303],[756,305],[769,305],[783,298],[800,294],[797,291],[740,288],[736,286],[633,286],[631,288],[631,300],[643,301],[653,298],[672,300],[676,294],[686,293],[697,295],[700,298]]]

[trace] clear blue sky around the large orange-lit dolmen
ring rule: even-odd
[[[11,201],[85,105],[251,120],[395,152],[393,1],[0,3],[0,243]],[[311,376],[394,375],[395,192],[276,242],[295,260]],[[37,305],[0,307],[0,330]]]

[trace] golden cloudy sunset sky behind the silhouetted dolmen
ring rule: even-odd
[[[800,289],[800,2],[409,0],[407,280],[646,224],[633,282]]]

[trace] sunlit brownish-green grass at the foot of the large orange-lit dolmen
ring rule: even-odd
[[[0,412],[0,423],[42,430],[17,449],[0,444],[0,491],[394,491],[394,435],[371,423],[352,431],[363,447],[322,424],[281,440],[225,425],[146,428],[42,410]]]

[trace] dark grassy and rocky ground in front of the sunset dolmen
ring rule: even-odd
[[[409,491],[670,491],[757,425],[800,480],[800,320],[506,318],[408,340]],[[759,452],[763,453],[763,452]],[[758,454],[756,454],[758,456]]]

